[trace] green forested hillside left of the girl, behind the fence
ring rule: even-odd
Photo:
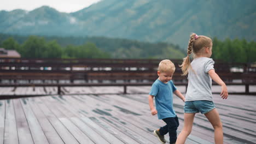
[[[38,37],[0,34],[0,46],[35,58],[179,58],[184,51],[167,43],[105,37]],[[55,53],[55,54],[53,54]]]

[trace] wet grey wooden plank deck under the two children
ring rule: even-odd
[[[230,86],[229,90],[243,91],[241,88]],[[250,88],[256,91],[255,86]],[[129,87],[129,94],[121,94],[123,87],[65,87],[65,95],[49,95],[56,88],[1,88],[0,95],[48,96],[0,100],[0,143],[159,143],[153,130],[164,122],[150,115],[149,89]],[[185,91],[183,86],[178,89]],[[219,91],[219,87],[213,87],[213,91]],[[229,95],[222,100],[214,94],[224,143],[256,142],[255,96]],[[183,104],[174,97],[178,132],[183,127]],[[203,115],[196,115],[186,143],[214,143],[214,131]]]

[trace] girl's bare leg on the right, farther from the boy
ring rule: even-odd
[[[223,130],[222,122],[220,122],[219,113],[217,109],[205,113],[206,118],[214,128],[214,141],[216,144],[223,144]]]

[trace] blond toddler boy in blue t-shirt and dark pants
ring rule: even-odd
[[[169,133],[170,143],[175,143],[177,140],[177,128],[179,126],[178,117],[173,110],[172,93],[185,101],[185,97],[179,92],[172,82],[172,75],[175,71],[174,64],[165,59],[159,63],[158,79],[153,83],[149,92],[149,107],[152,115],[158,114],[158,119],[162,119],[166,125],[158,130],[154,130],[154,135],[159,141],[166,143],[164,135]],[[154,100],[155,97],[155,105]]]

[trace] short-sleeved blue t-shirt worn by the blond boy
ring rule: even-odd
[[[176,91],[174,83],[168,81],[167,83],[156,80],[149,92],[149,95],[154,95],[156,110],[158,111],[158,119],[167,117],[176,117],[173,110],[173,92]]]

